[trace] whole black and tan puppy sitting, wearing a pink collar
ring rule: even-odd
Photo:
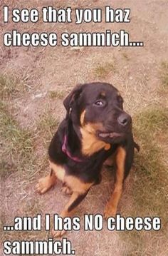
[[[76,86],[63,101],[67,111],[49,146],[51,173],[36,185],[45,193],[57,178],[71,197],[61,216],[70,216],[90,188],[100,183],[103,163],[115,156],[115,189],[105,206],[105,218],[115,216],[138,148],[132,136],[132,119],[123,110],[119,91],[109,83]],[[56,232],[56,236],[63,232]]]

